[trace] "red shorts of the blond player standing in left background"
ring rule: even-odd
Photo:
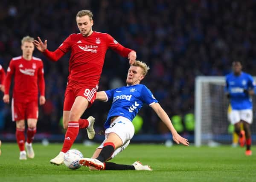
[[[20,101],[12,98],[12,121],[38,119],[38,99]]]

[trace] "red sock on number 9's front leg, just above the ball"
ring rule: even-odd
[[[71,146],[76,140],[78,133],[79,123],[77,121],[69,121],[61,152],[66,153],[68,150],[70,150]]]

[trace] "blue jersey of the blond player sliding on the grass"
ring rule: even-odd
[[[132,121],[144,103],[151,105],[158,102],[152,92],[142,84],[107,90],[105,93],[107,101],[113,102],[104,124],[106,129],[109,128],[113,116],[123,116]]]

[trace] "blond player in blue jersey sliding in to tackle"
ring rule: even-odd
[[[97,170],[152,170],[148,165],[134,162],[133,165],[119,165],[106,162],[124,150],[134,136],[133,118],[137,115],[143,104],[148,104],[166,124],[177,144],[189,146],[187,139],[181,137],[172,125],[167,113],[160,106],[148,88],[140,84],[148,72],[149,67],[135,61],[128,70],[126,87],[97,92],[96,100],[112,101],[111,109],[105,121],[105,140],[96,149],[92,158],[83,158],[79,163]]]

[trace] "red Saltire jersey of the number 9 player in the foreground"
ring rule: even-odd
[[[68,78],[88,86],[99,83],[108,48],[123,57],[128,57],[129,52],[132,51],[119,44],[111,35],[100,32],[93,32],[88,37],[84,37],[81,33],[71,34],[58,47],[64,53],[71,50]]]

